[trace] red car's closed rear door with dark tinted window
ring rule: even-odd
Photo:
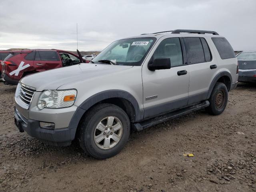
[[[62,67],[62,62],[57,51],[41,50],[36,51],[34,68],[36,71],[45,71]]]

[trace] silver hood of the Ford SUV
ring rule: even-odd
[[[36,91],[56,90],[64,84],[86,80],[105,74],[114,73],[132,66],[82,63],[78,65],[47,70],[26,76],[20,80],[25,85],[36,88]]]

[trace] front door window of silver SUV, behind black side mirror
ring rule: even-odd
[[[172,67],[182,65],[183,58],[180,39],[168,38],[162,40],[154,52],[154,59],[156,58],[170,58]]]

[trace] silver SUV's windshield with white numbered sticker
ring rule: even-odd
[[[113,42],[92,61],[110,60],[117,65],[140,66],[156,38],[132,38]]]

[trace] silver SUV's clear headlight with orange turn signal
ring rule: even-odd
[[[38,99],[37,106],[40,110],[43,108],[66,108],[71,107],[76,100],[77,91],[70,90],[45,90]]]

